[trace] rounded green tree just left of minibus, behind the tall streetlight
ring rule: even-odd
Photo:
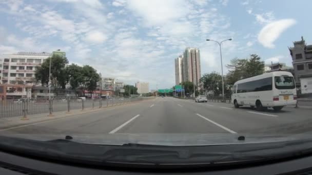
[[[200,81],[203,83],[204,89],[212,91],[214,95],[222,93],[222,76],[219,73],[204,74]]]

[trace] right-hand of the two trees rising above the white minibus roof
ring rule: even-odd
[[[257,54],[251,54],[246,62],[246,76],[244,78],[261,75],[264,73],[264,61]]]

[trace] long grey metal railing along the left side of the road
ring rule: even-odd
[[[101,108],[106,106],[122,105],[129,102],[141,101],[150,98],[110,98],[110,99],[85,99],[62,98],[62,99],[17,99],[0,101],[0,118],[17,117],[35,114],[49,113],[71,110],[86,110],[86,108]]]

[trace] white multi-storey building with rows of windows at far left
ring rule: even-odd
[[[37,66],[51,54],[42,52],[18,52],[3,55],[2,84],[34,85]],[[1,64],[1,63],[0,63]]]

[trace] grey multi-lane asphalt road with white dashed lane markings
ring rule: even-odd
[[[257,112],[229,103],[158,97],[103,111],[4,130],[18,134],[247,133],[298,134],[312,130],[312,110],[284,107]]]

